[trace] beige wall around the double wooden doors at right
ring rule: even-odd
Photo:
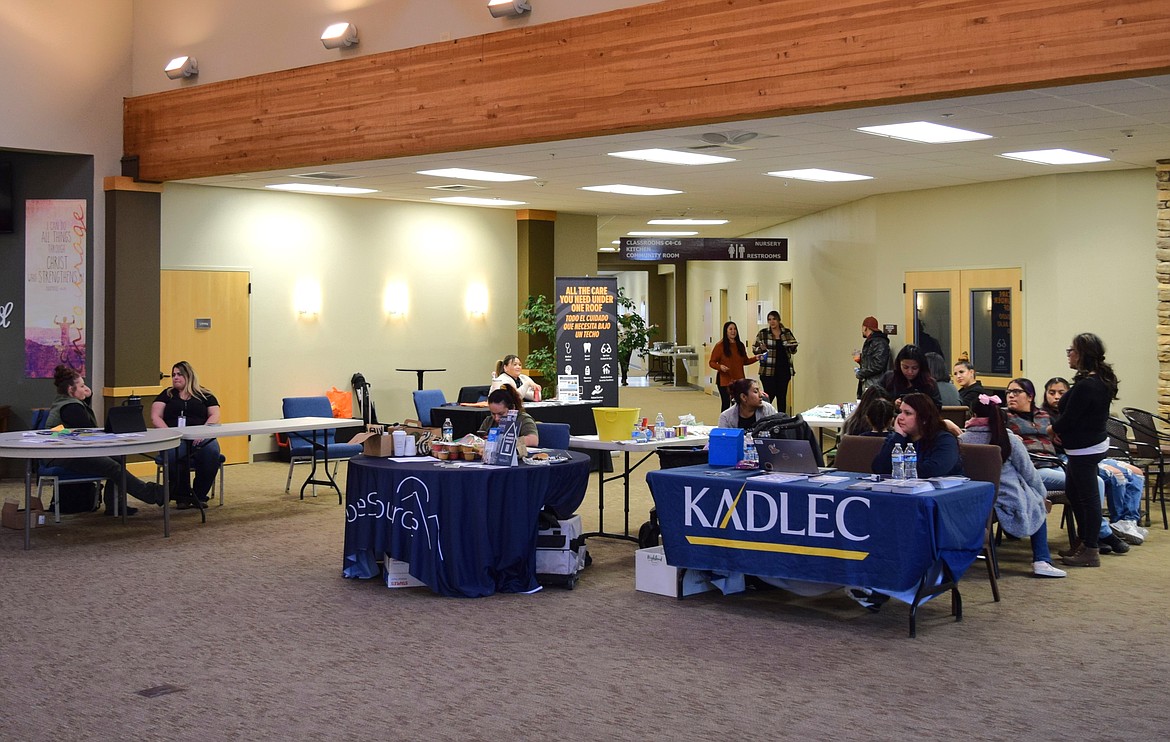
[[[1096,332],[1121,377],[1117,407],[1156,400],[1151,170],[1078,173],[879,195],[799,219],[757,236],[789,238],[789,262],[691,266],[688,308],[701,342],[702,291],[729,289],[741,324],[749,283],[777,301],[792,280],[800,339],[796,407],[852,399],[849,355],[861,320],[899,325],[907,342],[902,276],[908,270],[1020,267],[1025,376],[1068,376],[1073,335]],[[709,350],[708,350],[709,353]]]

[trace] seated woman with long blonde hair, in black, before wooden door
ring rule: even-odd
[[[199,385],[199,377],[191,364],[180,360],[171,369],[171,389],[154,398],[150,420],[154,427],[215,425],[219,422],[219,400]],[[193,486],[185,474],[180,475],[180,468],[186,472],[186,467],[179,466],[180,461],[188,460],[195,469]],[[185,440],[178,448],[166,452],[166,461],[174,483],[172,500],[179,509],[198,507],[195,500],[207,502],[220,465],[219,442],[214,438]]]

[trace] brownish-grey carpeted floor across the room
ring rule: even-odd
[[[717,398],[626,387],[653,419]],[[655,465],[651,459],[644,466]],[[345,467],[342,467],[344,476]],[[677,602],[633,590],[634,545],[593,538],[576,590],[482,599],[340,577],[336,495],[278,463],[229,467],[199,524],[144,509],[0,531],[0,738],[1165,738],[1170,533],[1066,579],[1002,551],[965,618],[782,591]],[[298,476],[304,469],[298,468]],[[634,528],[649,497],[641,469]],[[597,518],[596,475],[581,514]],[[0,496],[20,485],[0,482]],[[610,515],[620,510],[610,489]],[[1049,530],[1059,537],[1054,514]],[[1062,544],[1053,542],[1054,547]],[[173,686],[153,698],[138,692]]]

